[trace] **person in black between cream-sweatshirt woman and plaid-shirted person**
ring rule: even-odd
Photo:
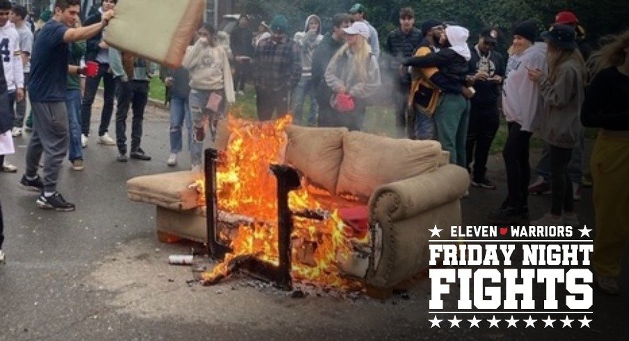
[[[236,63],[236,74],[234,74],[234,90],[242,95],[245,90],[245,83],[250,74],[250,61],[253,56],[253,46],[251,45],[253,31],[249,27],[249,17],[241,14],[238,18],[238,26],[234,28],[230,36],[230,48]]]

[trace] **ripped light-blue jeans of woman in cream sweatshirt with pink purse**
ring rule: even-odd
[[[211,93],[216,93],[223,97],[218,111],[206,108],[207,100]],[[193,166],[200,165],[202,161],[203,143],[209,128],[212,135],[212,143],[216,138],[216,122],[225,118],[225,91],[221,90],[190,90],[190,113],[192,118],[192,145],[190,147],[190,161]]]

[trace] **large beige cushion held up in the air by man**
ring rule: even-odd
[[[104,40],[116,49],[178,68],[204,11],[204,0],[120,0]]]

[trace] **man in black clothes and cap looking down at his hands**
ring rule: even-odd
[[[471,171],[472,186],[495,189],[495,185],[486,177],[489,148],[500,126],[497,101],[500,96],[500,84],[504,79],[504,59],[494,51],[498,33],[495,29],[485,29],[478,38],[478,44],[471,49],[470,79],[474,81],[476,93],[472,97],[470,125],[466,143],[465,164]]]

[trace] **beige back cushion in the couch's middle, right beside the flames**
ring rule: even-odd
[[[289,125],[286,162],[303,172],[312,184],[330,193],[336,189],[347,128],[312,128]]]

